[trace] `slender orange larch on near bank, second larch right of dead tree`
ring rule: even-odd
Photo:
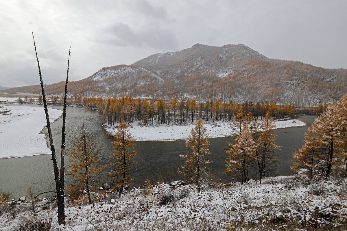
[[[114,139],[112,156],[115,161],[110,161],[112,170],[109,174],[116,179],[116,187],[119,187],[118,197],[121,197],[124,186],[130,181],[130,173],[136,164],[134,159],[137,154],[134,150],[135,144],[132,135],[123,119],[117,128]]]

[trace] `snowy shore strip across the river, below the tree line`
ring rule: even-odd
[[[295,123],[293,122],[295,121]],[[306,124],[297,119],[286,121],[275,121],[277,128],[305,126]],[[132,126],[132,127],[131,127]],[[211,138],[226,137],[231,135],[231,129],[228,122],[216,122],[204,125],[210,133]],[[167,125],[155,124],[154,126],[142,126],[138,122],[131,123],[129,126],[130,133],[136,141],[171,141],[185,140],[189,136],[191,129],[195,125]],[[117,129],[112,127],[105,128],[108,133],[115,135]]]

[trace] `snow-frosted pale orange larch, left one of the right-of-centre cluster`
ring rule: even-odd
[[[255,156],[256,145],[249,127],[242,128],[234,144],[227,142],[229,148],[225,150],[228,154],[225,173],[241,178],[241,184],[249,180],[249,167]]]

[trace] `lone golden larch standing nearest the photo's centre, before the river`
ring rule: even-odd
[[[210,161],[205,159],[205,156],[210,154],[209,138],[210,134],[207,132],[202,119],[198,119],[195,128],[192,128],[186,140],[187,153],[180,155],[186,161],[184,166],[178,169],[178,172],[190,178],[191,183],[197,185],[198,192],[200,192],[201,184],[206,181],[209,172]]]

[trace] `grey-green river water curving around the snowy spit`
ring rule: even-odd
[[[37,106],[37,105],[34,105]],[[62,110],[61,106],[50,106]],[[87,131],[91,132],[95,141],[102,144],[101,158],[102,164],[108,164],[105,171],[110,169],[109,161],[112,158],[113,137],[105,132],[100,120],[99,113],[94,110],[77,107],[67,107],[66,121],[66,149],[70,148],[72,141],[78,137],[79,128],[84,121]],[[304,133],[308,126],[311,126],[316,116],[304,115],[297,119],[304,121],[307,125],[303,127],[280,128],[274,133],[277,135],[276,143],[282,145],[281,150],[277,150],[275,156],[278,157],[278,175],[290,175],[291,159],[293,152],[301,148]],[[62,119],[51,124],[53,141],[56,149],[60,150]],[[232,142],[231,138],[210,139],[211,155],[209,160],[213,161],[211,166],[211,177],[218,182],[228,182],[231,178],[226,176],[225,160],[227,154],[224,152],[228,148],[226,143]],[[135,150],[137,152],[137,165],[132,172],[135,177],[131,186],[141,186],[148,177],[152,182],[158,181],[161,175],[164,181],[183,179],[177,173],[177,169],[184,164],[184,159],[179,158],[180,154],[186,153],[184,140],[179,141],[136,141]],[[60,154],[58,154],[60,159]],[[66,157],[66,166],[68,158]],[[0,159],[0,189],[11,192],[15,198],[25,195],[28,185],[32,185],[36,192],[46,192],[55,189],[54,177],[52,173],[53,164],[49,154],[36,155],[31,157]],[[66,177],[66,184],[69,185],[71,177]],[[97,179],[96,187],[104,183],[112,183],[112,179],[104,173],[101,179]]]

